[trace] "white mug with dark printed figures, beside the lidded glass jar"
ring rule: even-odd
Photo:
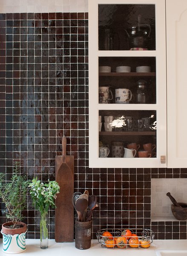
[[[132,92],[126,88],[115,89],[115,103],[117,104],[128,104],[132,99]]]

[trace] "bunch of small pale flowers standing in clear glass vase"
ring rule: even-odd
[[[48,248],[48,210],[55,208],[56,194],[60,187],[56,181],[43,183],[36,178],[29,183],[30,195],[35,208],[40,212],[40,248]]]

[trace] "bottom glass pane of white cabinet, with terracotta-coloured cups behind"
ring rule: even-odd
[[[156,111],[99,111],[99,157],[156,157]]]

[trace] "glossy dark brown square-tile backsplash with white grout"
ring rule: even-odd
[[[0,172],[13,160],[31,179],[55,179],[55,155],[67,137],[75,156],[75,191],[98,196],[93,234],[101,228],[151,228],[155,239],[186,239],[186,221],[151,222],[151,177],[186,178],[187,169],[90,169],[88,160],[88,13],[0,14]],[[39,238],[29,197],[24,221]],[[0,203],[0,223],[5,222]],[[49,236],[55,237],[50,210]]]

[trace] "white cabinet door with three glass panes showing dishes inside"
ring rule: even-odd
[[[113,0],[89,0],[89,167],[167,166],[165,42],[164,0],[115,0],[115,3]],[[99,72],[99,66],[109,66],[111,72]],[[131,67],[131,71],[116,72],[118,66]],[[151,70],[136,72],[138,66],[148,66]],[[146,84],[146,100],[138,102],[137,87],[142,80]],[[106,98],[99,94],[101,87],[112,91],[111,101],[107,99],[107,91]],[[118,88],[131,90],[132,100],[119,104],[124,95],[117,94]],[[99,116],[103,123],[101,131]],[[113,116],[115,121],[122,120],[126,125],[116,127],[113,120],[112,131],[106,131],[109,127],[104,128],[104,116]],[[127,127],[127,119],[132,120],[132,127]],[[138,126],[141,119],[145,122],[143,128]],[[157,122],[156,130],[151,129],[155,127],[153,121]],[[111,126],[111,121],[109,123]],[[125,148],[127,144],[136,143],[141,151],[147,143],[155,144],[156,148],[149,158],[114,157],[112,149],[121,142]],[[108,157],[99,157],[101,145],[109,148]]]

